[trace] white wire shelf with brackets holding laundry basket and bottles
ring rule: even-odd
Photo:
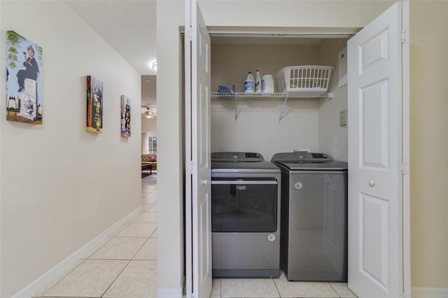
[[[285,107],[288,99],[318,99],[327,98],[331,99],[333,97],[332,93],[319,93],[319,92],[295,92],[295,93],[244,93],[244,92],[234,92],[234,93],[221,93],[221,92],[211,92],[211,98],[214,99],[228,99],[235,100],[235,121],[238,120],[238,99],[284,99],[283,106],[281,107],[281,113],[279,116],[279,122],[285,116]]]

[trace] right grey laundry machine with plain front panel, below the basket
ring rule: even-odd
[[[281,152],[280,263],[288,281],[347,281],[346,162]]]

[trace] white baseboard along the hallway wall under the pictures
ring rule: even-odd
[[[73,265],[76,264],[78,260],[85,257],[87,253],[94,250],[94,248],[99,248],[100,246],[102,246],[102,244],[104,244],[103,241],[107,238],[107,236],[115,232],[116,229],[121,227],[123,224],[125,224],[125,222],[127,222],[127,220],[130,220],[139,212],[141,212],[141,206],[113,224],[111,227],[109,227],[109,229],[106,229],[106,231],[102,232],[102,234],[96,236],[94,239],[92,239],[92,241],[85,244],[85,246],[76,250],[76,252],[72,253],[65,260],[43,274],[43,276],[37,278],[36,281],[33,281],[32,283],[27,285],[26,288],[14,295],[13,298],[29,298],[33,297],[33,295],[36,295],[38,291],[42,290],[49,283],[55,281],[56,278],[64,274],[64,272],[66,272],[69,268],[73,267]]]

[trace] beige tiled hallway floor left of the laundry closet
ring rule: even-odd
[[[157,174],[141,179],[141,212],[35,297],[155,297]]]

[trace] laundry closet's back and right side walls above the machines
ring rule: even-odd
[[[348,35],[211,33],[211,152],[325,152],[346,162],[347,128],[339,112],[347,108],[347,86],[339,87],[339,52]],[[346,55],[345,55],[346,56]],[[340,64],[346,70],[346,57]],[[249,71],[276,75],[286,66],[332,66],[328,96],[219,97],[218,85],[244,92]],[[346,76],[346,71],[343,71]]]

